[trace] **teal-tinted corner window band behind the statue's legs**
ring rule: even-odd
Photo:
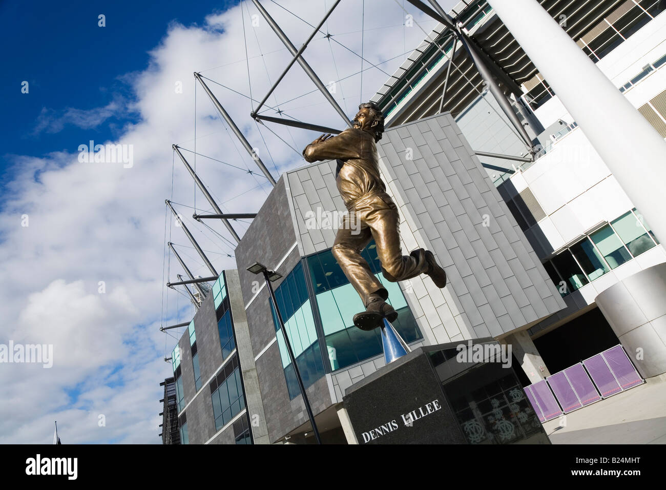
[[[374,242],[363,255],[388,290],[388,302],[398,311],[393,323],[398,333],[407,343],[422,339],[400,286],[382,276]],[[330,250],[302,259],[275,289],[275,296],[306,388],[326,372],[345,369],[382,353],[379,329],[362,331],[354,326],[354,315],[365,307]],[[298,382],[272,304],[271,311],[293,399],[300,393]],[[325,346],[323,353],[321,345]]]

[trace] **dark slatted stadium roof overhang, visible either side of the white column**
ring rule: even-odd
[[[539,3],[580,44],[581,37],[597,28],[605,17],[619,11],[618,7],[627,1],[541,0]],[[519,97],[541,83],[537,68],[486,0],[461,2],[449,15],[485,57],[506,95],[515,93]],[[441,110],[456,117],[484,91],[484,79],[453,34],[452,29],[440,23],[373,97],[387,115],[388,125],[440,112],[452,53],[454,59]]]

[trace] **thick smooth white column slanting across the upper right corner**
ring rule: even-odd
[[[666,141],[536,0],[488,3],[665,241]]]

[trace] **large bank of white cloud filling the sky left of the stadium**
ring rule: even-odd
[[[326,11],[322,1],[280,4],[315,25]],[[323,28],[356,53],[361,51],[361,5],[342,3]],[[375,64],[396,57],[381,65],[386,73],[393,73],[404,61],[400,55],[416,47],[424,35],[416,25],[402,27],[404,12],[395,3],[368,0],[365,5],[364,57]],[[267,3],[266,8],[292,37],[294,45],[300,46],[310,34],[311,27],[276,4]],[[406,4],[405,8],[422,22],[426,31],[436,25],[411,5]],[[95,141],[133,145],[132,168],[125,169],[121,163],[80,163],[77,147],[88,141],[65,141],[70,153],[52,153],[43,158],[13,157],[15,178],[7,184],[0,213],[0,294],[4,298],[0,303],[4,320],[0,343],[10,339],[53,343],[55,360],[52,369],[0,365],[0,382],[6,395],[0,404],[0,443],[49,443],[56,419],[63,443],[159,442],[159,383],[170,375],[169,365],[162,358],[165,351],[170,355],[175,343],[172,337],[166,337],[165,342],[165,334],[159,331],[164,199],[173,196],[176,203],[195,205],[192,180],[177,158],[172,167],[171,145],[178,143],[192,150],[195,147],[192,72],[200,71],[230,89],[249,93],[242,18],[255,99],[263,97],[290,60],[262,18],[257,27],[252,27],[251,16],[256,14],[254,5],[244,3],[242,11],[236,6],[212,13],[203,26],[174,23],[151,51],[151,61],[144,71],[124,77],[118,74],[131,85],[133,101],[115,99],[106,107],[87,111],[47,110],[38,119],[39,131],[57,131],[66,123],[94,129],[117,113],[136,111],[140,122],[127,125],[117,141]],[[316,36],[304,55],[324,83],[361,69],[356,55],[321,35]],[[372,67],[364,71],[363,93],[360,75],[348,77],[338,82],[334,97],[351,116],[358,103],[370,99],[386,81],[386,73]],[[182,82],[183,93],[176,93],[178,81]],[[207,83],[248,140],[258,147],[275,177],[276,167],[281,173],[304,163],[269,131],[258,131],[249,117],[252,105],[248,99],[213,82]],[[340,117],[320,93],[298,97],[313,89],[310,79],[294,65],[267,104],[279,105],[302,121],[342,127]],[[266,114],[275,113],[268,110]],[[318,136],[284,126],[270,128],[299,153]],[[94,135],[89,139],[94,139]],[[196,170],[222,209],[258,210],[270,187],[218,120],[200,87],[196,89],[196,151],[254,171],[257,175],[252,176],[196,157]],[[184,155],[194,166],[194,155],[185,151]],[[225,255],[233,255],[232,247],[201,225],[192,224],[188,218],[192,209],[177,207],[200,245],[211,252],[215,267],[236,268],[234,259]],[[196,194],[196,207],[209,209],[200,193]],[[23,227],[21,220],[26,214],[29,226]],[[189,245],[170,217],[169,223],[167,233],[170,227],[172,241]],[[228,238],[219,223],[208,225]],[[241,235],[247,228],[240,222],[234,226]],[[184,247],[180,251],[194,274],[208,275],[196,253]],[[165,280],[173,281],[180,267],[175,259],[170,265]],[[105,281],[104,294],[98,292],[99,281]],[[167,323],[185,321],[191,315],[186,299],[172,291],[168,293]],[[72,393],[78,393],[78,398],[73,399]],[[106,427],[97,425],[99,414],[106,416]]]

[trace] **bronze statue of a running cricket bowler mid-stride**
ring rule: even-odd
[[[360,295],[366,311],[354,315],[354,325],[362,330],[379,327],[382,319],[395,321],[398,312],[386,303],[388,291],[382,287],[361,251],[374,239],[382,274],[388,281],[403,281],[425,273],[437,287],[446,285],[446,273],[432,252],[416,249],[402,255],[398,207],[386,193],[379,173],[376,142],[382,139],[384,115],[372,102],[358,106],[354,127],[337,136],[322,135],[303,150],[306,161],[338,161],[336,183],[349,214],[338,229],[332,253],[342,271]],[[348,220],[356,217],[352,229]]]

